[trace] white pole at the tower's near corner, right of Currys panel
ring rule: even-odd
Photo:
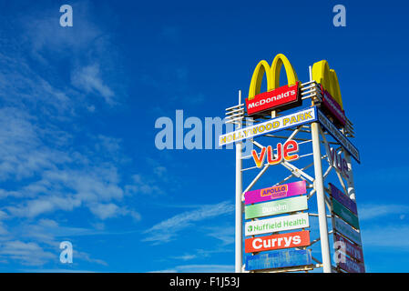
[[[312,66],[309,67],[310,81],[312,81]],[[330,243],[328,239],[327,214],[325,211],[325,194],[322,179],[321,142],[318,122],[311,125],[312,154],[314,161],[314,186],[317,196],[318,223],[320,226],[320,240],[322,253],[322,269],[324,273],[332,273]]]

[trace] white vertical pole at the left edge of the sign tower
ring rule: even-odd
[[[241,90],[239,90],[239,105],[241,104]],[[239,121],[238,128],[242,125],[241,120]],[[235,261],[235,271],[236,273],[241,273],[241,267],[243,265],[242,251],[242,173],[241,173],[241,152],[242,152],[242,142],[236,143],[236,261]]]

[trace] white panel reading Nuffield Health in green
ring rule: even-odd
[[[308,213],[280,216],[269,219],[249,221],[245,225],[246,236],[275,233],[278,231],[305,228],[310,226]]]

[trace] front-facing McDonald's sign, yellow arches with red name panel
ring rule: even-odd
[[[284,65],[288,85],[280,86],[281,66]],[[266,75],[267,92],[261,93],[262,78]],[[285,55],[276,55],[271,66],[262,60],[251,77],[249,97],[246,98],[247,114],[254,115],[267,110],[285,110],[302,105],[299,80]]]

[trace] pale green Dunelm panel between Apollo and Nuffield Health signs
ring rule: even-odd
[[[252,206],[245,206],[246,219],[276,216],[283,213],[302,211],[308,209],[307,196],[298,196],[271,202],[264,202]]]

